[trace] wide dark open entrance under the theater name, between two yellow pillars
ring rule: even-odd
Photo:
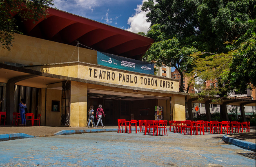
[[[102,104],[105,113],[105,117],[102,118],[103,125],[107,126],[117,126],[117,119],[155,119],[155,106],[159,105],[164,106],[164,119],[170,119],[167,116],[167,112],[170,113],[169,97],[88,89],[87,98],[88,110],[93,106],[95,111],[95,124],[97,124],[96,111],[99,104]]]

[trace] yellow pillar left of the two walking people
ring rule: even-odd
[[[70,122],[71,127],[87,124],[87,84],[71,81]]]

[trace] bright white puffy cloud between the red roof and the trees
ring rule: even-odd
[[[142,4],[143,2],[145,2],[147,0],[142,0]],[[128,23],[130,28],[126,29],[128,31],[134,32],[134,33],[138,33],[138,32],[144,32],[147,33],[147,30],[149,29],[150,23],[146,22],[146,14],[147,12],[144,12],[141,10],[142,4],[137,5],[137,8],[135,9],[136,12],[133,16],[129,17],[128,19]]]

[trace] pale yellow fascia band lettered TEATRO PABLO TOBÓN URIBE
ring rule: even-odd
[[[163,91],[179,91],[178,80],[129,72],[121,69],[114,69],[88,63],[65,63],[28,68],[61,76],[105,82],[113,84],[113,86],[123,85]]]

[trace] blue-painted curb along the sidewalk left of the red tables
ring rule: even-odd
[[[54,133],[52,136],[82,134],[82,133],[98,133],[98,132],[117,132],[117,129],[61,130],[60,132]],[[34,138],[34,137],[38,137],[38,136],[32,136],[25,133],[0,134],[0,141]]]

